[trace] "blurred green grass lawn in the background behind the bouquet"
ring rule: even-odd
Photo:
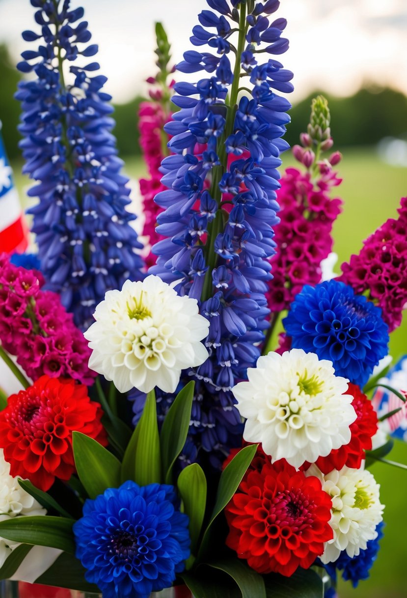
[[[387,218],[397,215],[400,197],[407,194],[407,169],[384,164],[373,148],[352,148],[343,151],[343,161],[338,165],[343,184],[337,195],[344,200],[343,213],[334,226],[334,251],[338,264],[359,251],[362,241]],[[291,155],[283,155],[283,167],[292,166]],[[21,164],[13,164],[17,187],[24,207],[32,200],[24,195],[27,179],[20,174]],[[145,174],[140,159],[125,158],[125,172],[132,178]],[[407,234],[407,231],[406,231]],[[339,266],[335,269],[339,271]],[[407,318],[390,340],[390,353],[394,359],[407,352]],[[390,459],[407,463],[407,444],[396,443]],[[406,498],[407,471],[376,463],[372,473],[381,484],[381,501],[386,505],[386,528],[381,550],[372,569],[371,578],[360,582],[356,590],[340,582],[340,598],[405,598],[407,595],[407,526]],[[295,598],[293,596],[293,598]]]

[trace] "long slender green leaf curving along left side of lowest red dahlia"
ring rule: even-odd
[[[257,446],[257,444],[251,444],[247,447],[244,447],[244,449],[240,450],[239,453],[236,454],[235,457],[233,457],[232,461],[228,463],[226,468],[224,468],[218,484],[215,506],[213,508],[208,526],[206,527],[205,533],[203,535],[201,548],[199,549],[198,553],[198,559],[201,559],[203,553],[208,547],[209,529],[213,521],[218,516],[218,514],[221,511],[223,511],[227,503],[230,501],[230,499],[238,489],[238,486],[242,481],[243,475],[245,475],[248,466],[252,462],[252,459],[257,450]]]

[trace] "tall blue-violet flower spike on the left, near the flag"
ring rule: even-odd
[[[83,8],[69,0],[31,0],[41,34],[24,31],[26,41],[41,39],[38,50],[24,51],[17,68],[35,72],[21,81],[16,94],[23,114],[19,129],[26,160],[24,172],[38,184],[28,194],[39,197],[30,209],[41,270],[47,287],[61,294],[64,306],[85,328],[104,293],[124,280],[140,279],[143,262],[135,253],[142,246],[128,224],[128,179],[120,172],[109,117],[110,96]],[[82,57],[84,66],[66,63]]]

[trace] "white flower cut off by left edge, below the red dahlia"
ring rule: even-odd
[[[3,449],[0,449],[0,521],[20,515],[46,514],[47,510],[21,488],[18,478],[10,475],[10,463],[5,461]],[[19,545],[20,542],[0,538],[0,568],[9,554]]]

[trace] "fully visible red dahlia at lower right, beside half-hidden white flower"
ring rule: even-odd
[[[258,573],[309,568],[332,539],[332,502],[316,477],[284,460],[249,469],[227,505],[226,544]]]

